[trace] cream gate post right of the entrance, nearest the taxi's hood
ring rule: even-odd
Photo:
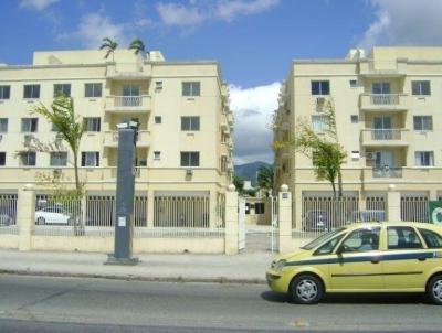
[[[292,238],[292,193],[288,186],[281,185],[278,193],[278,219],[280,219],[280,254],[293,250]]]

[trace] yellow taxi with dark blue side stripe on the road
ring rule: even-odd
[[[317,303],[333,292],[425,292],[442,304],[442,226],[355,223],[276,258],[270,288],[295,302]]]

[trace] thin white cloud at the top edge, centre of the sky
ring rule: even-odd
[[[170,26],[197,26],[203,22],[232,21],[240,15],[252,15],[270,10],[280,0],[217,0],[158,3],[156,9],[161,22]]]

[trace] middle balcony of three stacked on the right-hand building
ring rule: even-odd
[[[361,143],[364,147],[406,147],[409,144],[407,129],[364,129],[361,131]]]

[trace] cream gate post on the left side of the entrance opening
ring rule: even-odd
[[[238,213],[238,192],[235,186],[230,184],[225,192],[225,234],[224,251],[225,255],[236,255],[239,253],[239,213]]]

